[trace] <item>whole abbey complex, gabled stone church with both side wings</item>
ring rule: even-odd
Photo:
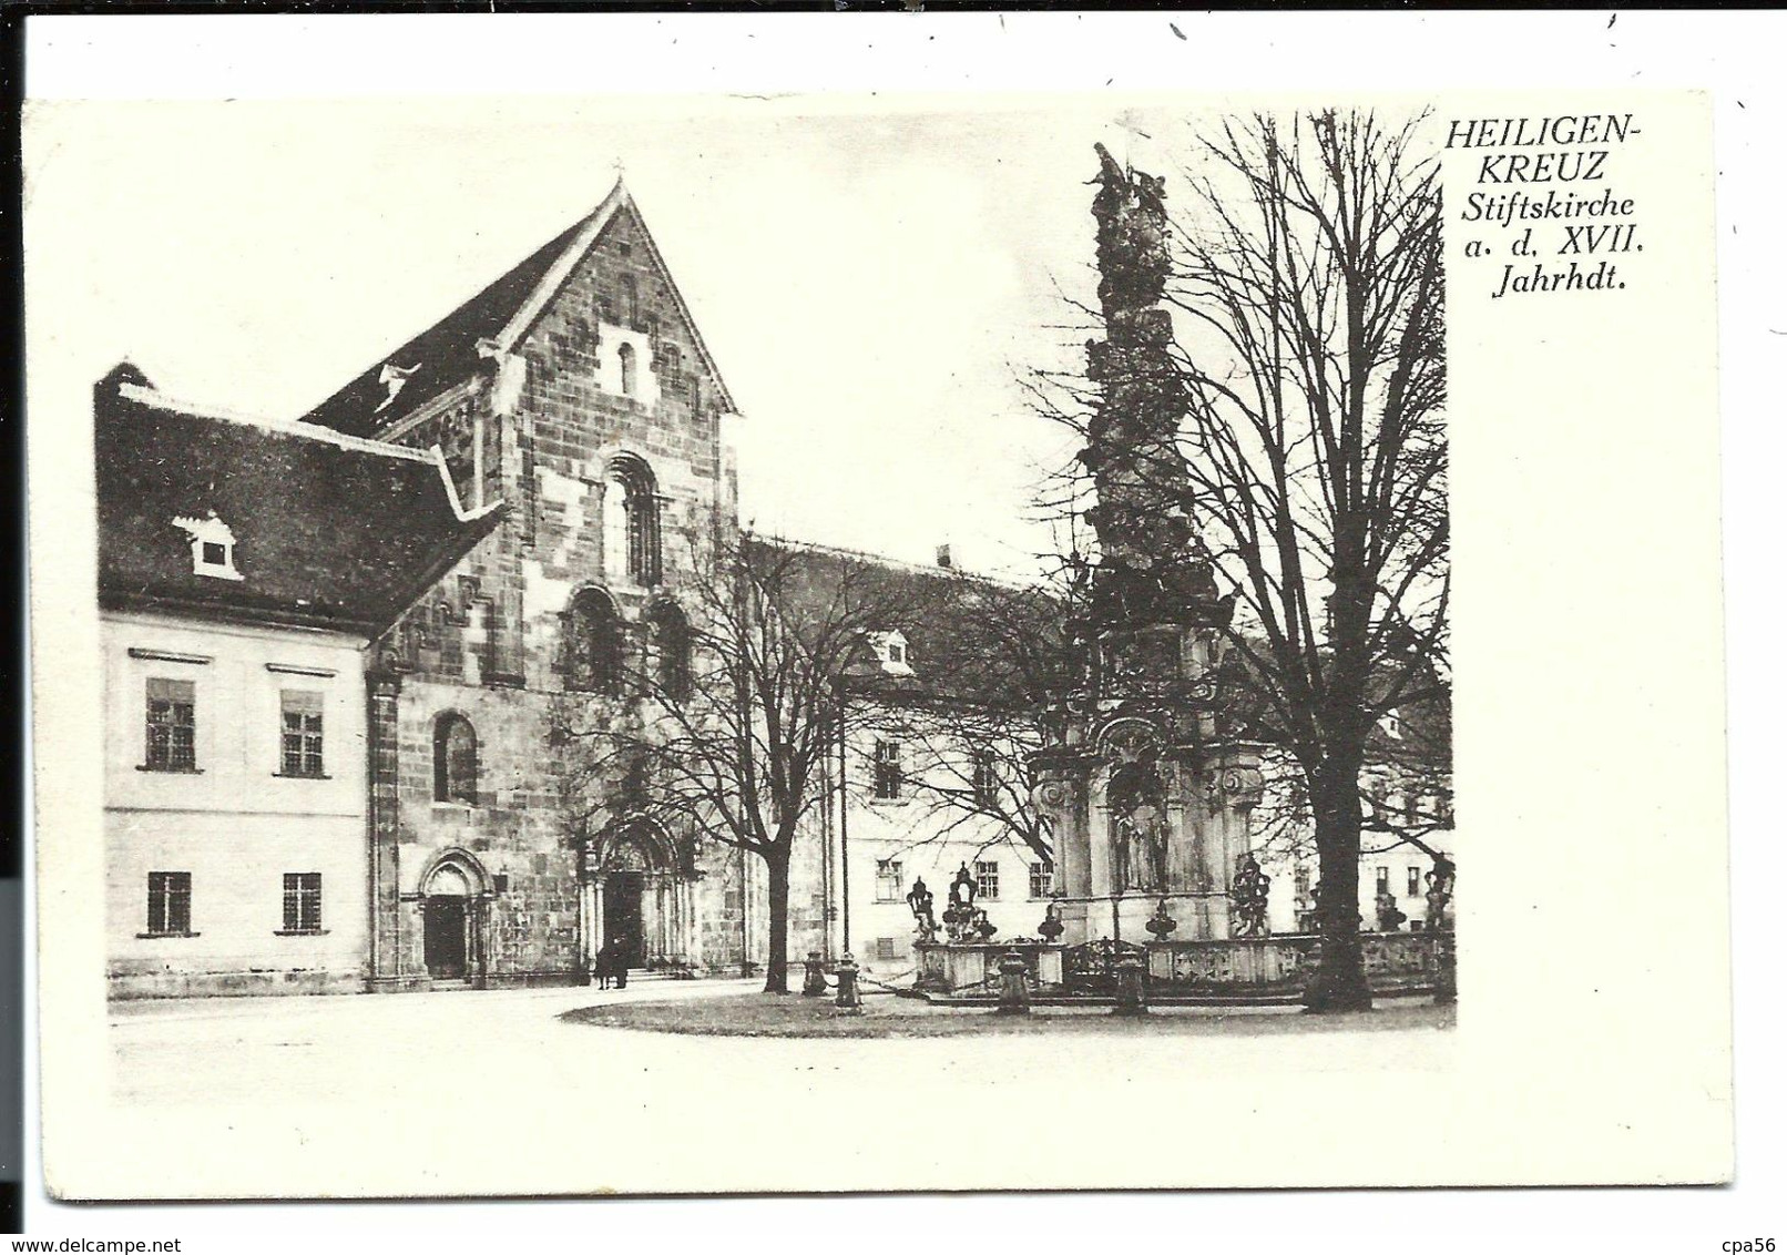
[[[752,974],[770,958],[763,858],[667,819],[649,779],[591,788],[570,771],[575,712],[633,719],[642,683],[659,704],[690,695],[715,606],[701,576],[740,536],[734,400],[622,182],[297,420],[182,402],[132,363],[98,381],[93,415],[113,996]],[[842,729],[788,846],[786,953],[910,976],[924,878],[970,883],[1001,940],[1035,935],[1063,894],[1086,940],[1140,935],[1142,889],[1174,887],[1165,860],[1131,883],[1090,853],[1092,812],[1033,824],[1033,801],[1060,792],[1045,771],[1033,799],[1042,760],[1001,760],[985,729],[926,753],[917,731],[926,703],[972,690],[976,669],[951,681],[947,660],[974,653],[969,622],[1004,594],[947,547],[902,569],[767,543],[808,588],[874,569],[906,615],[854,628],[858,661],[827,679]],[[1072,745],[1051,753],[1088,769]],[[1224,781],[1246,783],[1238,762]],[[1222,806],[1181,867],[1199,903],[1187,935],[1226,935],[1206,890],[1260,847],[1240,783],[1199,796]],[[1396,783],[1403,819],[1449,830],[1447,788]],[[1378,853],[1362,915],[1412,917],[1426,863]],[[1301,928],[1308,867],[1272,871],[1272,926]],[[1086,912],[1113,896],[1108,922]]]

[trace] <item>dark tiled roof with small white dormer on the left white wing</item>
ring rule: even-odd
[[[440,463],[298,425],[193,413],[120,366],[95,390],[100,602],[375,635],[495,527]],[[193,570],[175,518],[216,513],[241,579]]]

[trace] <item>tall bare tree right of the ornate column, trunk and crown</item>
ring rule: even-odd
[[[1306,1005],[1369,1007],[1360,771],[1378,720],[1449,681],[1437,161],[1421,120],[1326,111],[1204,131],[1183,175],[1169,504],[1238,597],[1228,649],[1303,774],[1322,933]]]

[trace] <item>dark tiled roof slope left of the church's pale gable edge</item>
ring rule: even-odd
[[[527,304],[527,299],[545,281],[552,263],[565,254],[586,222],[588,218],[579,218],[420,336],[379,358],[304,415],[304,422],[322,424],[352,436],[373,431],[379,420],[379,404],[390,395],[386,384],[381,383],[388,365],[399,370],[415,368],[400,393],[404,409],[415,409],[463,381],[477,368],[477,341],[495,336]]]

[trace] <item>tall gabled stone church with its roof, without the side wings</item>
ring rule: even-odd
[[[686,667],[686,581],[736,527],[733,399],[624,184],[306,420],[441,449],[497,529],[377,642],[368,670],[372,989],[742,971],[765,951],[751,856],[591,821],[561,712],[629,665]],[[797,894],[792,949],[822,928]]]

